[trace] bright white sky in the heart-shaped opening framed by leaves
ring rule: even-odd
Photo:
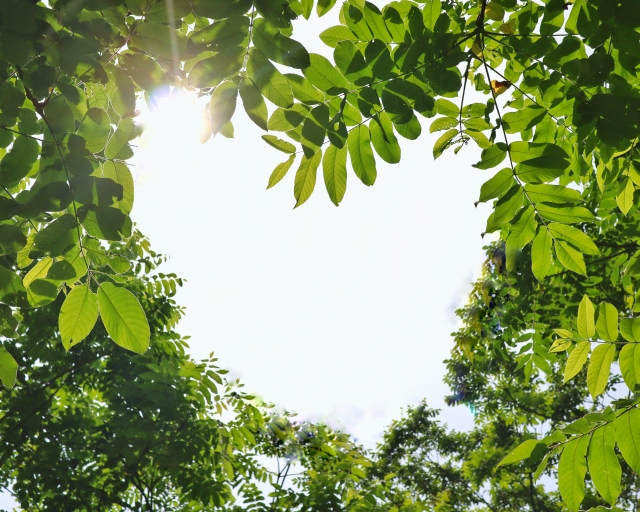
[[[337,12],[297,22],[294,38],[329,55],[317,34]],[[378,161],[374,187],[351,173],[336,208],[319,173],[292,210],[296,167],[265,191],[286,156],[260,139],[240,99],[232,140],[200,145],[201,109],[177,96],[144,113],[133,168],[133,218],[170,255],[165,271],[187,279],[179,330],[194,357],[214,351],[248,391],[368,446],[402,407],[424,397],[446,407],[454,310],[483,260],[488,211],[474,201],[492,173],[471,167],[479,150],[434,162],[439,134],[424,120],[418,141],[401,141],[400,164]],[[446,409],[451,426],[471,425],[466,409]]]

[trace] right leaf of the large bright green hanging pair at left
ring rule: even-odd
[[[116,344],[143,354],[149,347],[150,329],[140,302],[130,291],[112,283],[98,288],[100,318]]]

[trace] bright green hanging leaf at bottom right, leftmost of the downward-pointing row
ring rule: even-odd
[[[558,487],[563,501],[573,512],[584,499],[584,477],[587,474],[589,436],[569,441],[562,450],[558,464]]]

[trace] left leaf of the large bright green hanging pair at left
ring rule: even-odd
[[[62,303],[58,324],[65,350],[89,336],[98,320],[98,297],[88,285],[76,286]]]

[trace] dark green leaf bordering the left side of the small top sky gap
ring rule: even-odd
[[[270,21],[258,18],[253,21],[253,43],[269,59],[297,69],[309,67],[309,53],[298,41],[280,33]]]

